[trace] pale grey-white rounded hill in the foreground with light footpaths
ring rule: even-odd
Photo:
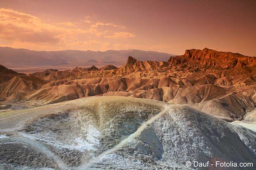
[[[221,169],[216,161],[256,159],[256,131],[139,98],[88,97],[11,111],[0,115],[0,129],[0,169],[190,169],[187,161],[214,164],[191,169]]]

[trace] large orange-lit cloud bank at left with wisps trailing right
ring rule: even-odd
[[[90,16],[84,18],[77,22],[54,22],[49,17],[43,20],[13,9],[0,8],[0,40],[6,44],[2,46],[34,50],[107,50],[113,42],[106,42],[105,38],[135,37],[132,33],[118,32],[125,29],[122,25],[93,22]],[[90,23],[89,28],[84,23]]]

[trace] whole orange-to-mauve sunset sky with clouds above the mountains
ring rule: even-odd
[[[0,46],[256,56],[256,1],[1,0]]]

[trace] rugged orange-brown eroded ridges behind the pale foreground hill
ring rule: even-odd
[[[15,78],[0,85],[0,98],[42,105],[87,96],[130,96],[186,104],[226,121],[243,120],[256,106],[255,63],[256,57],[207,48],[186,50],[162,62],[129,56],[119,68],[76,67]]]

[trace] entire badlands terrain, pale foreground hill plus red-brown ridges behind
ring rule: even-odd
[[[0,74],[0,169],[256,168],[256,57],[204,48]]]

